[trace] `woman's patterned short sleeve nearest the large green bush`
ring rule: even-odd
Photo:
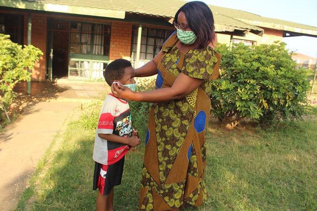
[[[213,71],[219,69],[221,56],[216,56],[216,54],[211,47],[188,52],[184,57],[182,73],[191,78],[211,79]]]

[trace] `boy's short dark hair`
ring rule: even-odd
[[[111,86],[114,80],[120,80],[125,73],[125,69],[131,66],[131,62],[123,58],[118,58],[110,62],[106,66],[104,72],[104,77],[107,84]]]

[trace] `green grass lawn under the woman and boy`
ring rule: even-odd
[[[95,210],[94,136],[77,122],[69,124],[59,149],[48,149],[15,210]],[[115,188],[116,211],[138,208],[144,143],[126,155],[122,183]],[[211,121],[206,143],[209,198],[184,211],[317,210],[316,118],[233,130]]]

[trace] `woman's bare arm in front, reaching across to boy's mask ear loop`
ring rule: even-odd
[[[199,87],[202,82],[203,79],[191,78],[184,73],[180,73],[174,81],[172,87],[161,88],[148,92],[132,92],[126,87],[114,84],[111,87],[111,91],[114,96],[125,100],[162,103],[184,98]]]

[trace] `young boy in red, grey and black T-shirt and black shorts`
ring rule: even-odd
[[[120,83],[133,90],[136,85],[134,69],[125,59],[109,63],[104,77],[109,86]],[[93,155],[94,190],[99,189],[97,211],[113,211],[113,187],[121,184],[124,156],[140,143],[138,132],[132,128],[128,102],[108,94],[100,111]]]

